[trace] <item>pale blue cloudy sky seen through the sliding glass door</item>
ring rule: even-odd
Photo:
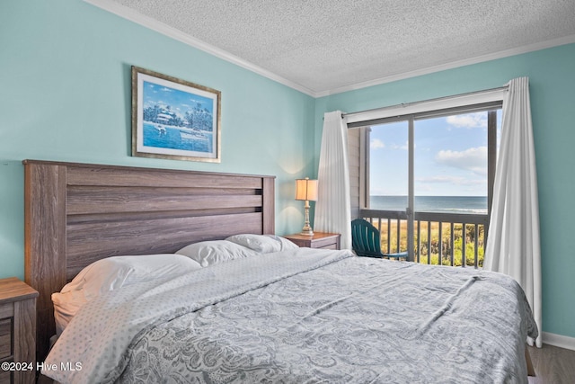
[[[406,196],[408,122],[371,129],[369,194]],[[415,121],[414,137],[416,196],[487,196],[487,112]]]

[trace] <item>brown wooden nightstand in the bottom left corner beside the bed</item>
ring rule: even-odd
[[[37,297],[36,290],[15,277],[0,279],[0,363],[20,363],[0,369],[0,383],[36,381]]]

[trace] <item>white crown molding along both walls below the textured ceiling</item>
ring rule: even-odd
[[[314,98],[329,96],[332,94],[342,94],[344,92],[349,92],[349,91],[356,91],[358,89],[367,88],[369,86],[382,85],[385,83],[391,83],[394,81],[403,80],[403,79],[410,78],[410,77],[428,75],[428,74],[431,74],[434,72],[444,71],[447,69],[470,66],[473,64],[482,63],[484,61],[491,61],[491,60],[495,60],[498,58],[507,58],[509,56],[520,55],[520,54],[532,52],[535,50],[553,48],[553,47],[557,47],[560,45],[571,44],[571,43],[575,42],[575,35],[570,35],[570,36],[562,37],[559,39],[545,40],[542,42],[538,42],[535,44],[529,44],[529,45],[517,47],[514,49],[501,50],[499,52],[494,52],[494,53],[491,53],[488,55],[477,56],[474,58],[465,58],[463,60],[456,60],[456,61],[452,61],[450,63],[440,64],[438,66],[425,67],[425,68],[417,69],[417,70],[410,71],[410,72],[397,73],[397,74],[394,74],[391,76],[380,77],[380,78],[377,78],[375,80],[370,80],[370,81],[361,82],[361,83],[357,83],[357,84],[344,85],[344,86],[334,88],[331,90],[314,91],[310,88],[305,87],[304,85],[297,84],[291,80],[286,79],[285,77],[276,75],[267,69],[256,66],[255,64],[252,64],[251,62],[244,60],[243,58],[238,58],[237,56],[227,52],[224,49],[218,49],[217,47],[214,47],[214,46],[212,46],[212,45],[210,45],[210,44],[208,44],[202,40],[195,39],[195,38],[191,37],[190,35],[182,32],[182,31],[179,31],[179,30],[177,30],[177,29],[175,29],[175,28],[173,28],[167,24],[164,24],[163,22],[158,22],[157,20],[155,20],[151,17],[148,17],[148,16],[143,15],[141,13],[137,13],[136,11],[134,11],[131,8],[128,8],[127,6],[115,3],[111,0],[84,0],[84,2],[88,3],[88,4],[92,4],[98,8],[102,8],[104,11],[114,13],[114,14],[116,14],[116,15],[124,18],[124,19],[131,21],[131,22],[136,22],[137,24],[140,24],[146,28],[149,28],[150,30],[157,31],[159,33],[164,34],[165,36],[168,36],[168,37],[173,38],[175,40],[179,40],[179,41],[183,42],[184,44],[190,45],[193,48],[200,49],[204,52],[207,52],[210,55],[213,55],[217,58],[221,58],[223,60],[226,60],[226,61],[228,61],[228,62],[230,62],[230,63],[232,63],[238,67],[243,67],[244,69],[252,71],[258,75],[267,77],[270,80],[273,80],[273,81],[275,81],[281,85],[286,85],[290,88],[295,89],[296,91],[299,91],[303,94],[307,94],[307,95],[312,96]]]

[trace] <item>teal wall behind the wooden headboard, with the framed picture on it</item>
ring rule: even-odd
[[[222,162],[130,156],[130,67],[222,93]],[[0,4],[0,278],[23,278],[22,159],[276,175],[276,230],[304,222],[314,98],[80,0]]]

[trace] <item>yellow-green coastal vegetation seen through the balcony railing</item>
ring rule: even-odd
[[[397,246],[398,226],[396,221],[391,221],[389,232],[387,220],[382,220],[380,226],[375,219],[373,224],[376,228],[380,228],[382,252],[387,252],[388,249],[389,252],[398,252],[398,249],[401,252],[407,251],[406,220],[400,221],[399,248]],[[483,266],[485,234],[482,225],[467,224],[464,229],[463,224],[454,224],[453,236],[450,223],[442,223],[440,228],[438,222],[420,221],[419,228],[418,222],[415,222],[414,226],[412,245],[414,261],[435,265],[462,266],[465,263],[466,266],[474,266],[477,257],[477,266],[480,268]],[[476,248],[477,255],[475,255]]]

